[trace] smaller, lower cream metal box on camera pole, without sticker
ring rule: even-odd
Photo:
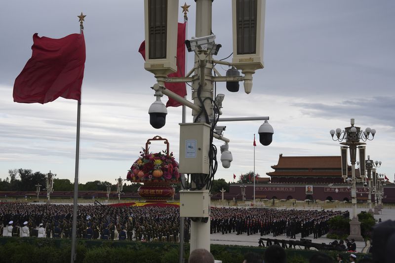
[[[180,217],[208,217],[210,195],[208,190],[181,190]]]

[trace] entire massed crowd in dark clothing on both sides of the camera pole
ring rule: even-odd
[[[264,208],[211,209],[210,232],[286,235],[314,238],[327,233],[327,221],[348,212],[274,210]],[[0,205],[0,235],[70,238],[72,205],[8,203]],[[112,207],[79,205],[77,237],[104,240],[179,242],[179,208],[173,206]],[[1,224],[0,223],[0,224]],[[190,239],[190,219],[185,220],[184,241]]]

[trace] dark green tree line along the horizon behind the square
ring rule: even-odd
[[[47,174],[41,173],[40,171],[33,172],[32,169],[10,169],[8,170],[8,176],[2,180],[0,178],[0,191],[36,191],[36,185],[41,185],[41,190],[45,186],[45,176]],[[224,179],[214,180],[211,193],[218,193],[222,188],[229,192],[229,185]],[[111,191],[117,190],[117,184],[111,184],[107,181],[90,181],[85,184],[78,184],[79,191],[107,191],[107,187],[111,187]],[[137,192],[137,189],[142,184],[133,183],[127,185],[124,183],[123,192]],[[175,185],[176,192],[180,190],[180,184]],[[60,179],[54,177],[53,180],[54,191],[73,191],[74,182],[69,179]]]

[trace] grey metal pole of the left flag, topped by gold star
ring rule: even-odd
[[[83,32],[84,17],[81,12],[79,18],[79,34]],[[81,98],[77,101],[77,139],[76,139],[76,170],[74,177],[74,202],[73,202],[73,225],[72,225],[72,239],[71,239],[71,257],[70,263],[74,263],[77,259],[76,241],[77,241],[77,213],[78,213],[78,177],[79,177],[79,140],[81,128]]]

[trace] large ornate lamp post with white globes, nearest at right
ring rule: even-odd
[[[351,161],[351,182],[352,182],[352,188],[351,188],[351,199],[353,203],[353,218],[350,222],[350,236],[349,239],[354,238],[356,241],[363,241],[363,237],[361,235],[361,228],[360,228],[360,222],[358,221],[358,218],[356,217],[356,174],[355,174],[355,164],[356,164],[356,148],[361,147],[362,145],[366,145],[367,140],[371,141],[374,138],[374,135],[376,133],[375,129],[370,129],[369,127],[365,129],[365,131],[361,131],[360,127],[354,126],[355,120],[351,119],[351,126],[346,127],[343,131],[340,128],[337,128],[335,130],[330,131],[330,135],[332,136],[332,140],[340,142],[341,145],[344,145],[342,147],[342,150],[345,150],[345,148],[350,149],[350,161]],[[335,138],[333,136],[336,135]],[[370,137],[370,135],[372,135]],[[345,142],[343,142],[345,141]],[[360,142],[363,141],[363,142]],[[364,154],[364,153],[363,153]],[[345,156],[344,156],[345,157]],[[361,157],[364,156],[359,156],[360,160],[362,160]],[[343,156],[342,156],[343,159]],[[346,159],[346,158],[345,158]],[[362,163],[362,162],[361,162]],[[363,160],[363,164],[364,164]],[[343,162],[342,162],[343,164]],[[347,167],[347,159],[345,160],[345,166]],[[361,173],[362,174],[362,173]],[[364,168],[363,168],[363,174],[364,174]],[[346,173],[343,173],[343,178],[346,182],[350,181],[350,179],[347,178],[347,168],[346,168]]]

